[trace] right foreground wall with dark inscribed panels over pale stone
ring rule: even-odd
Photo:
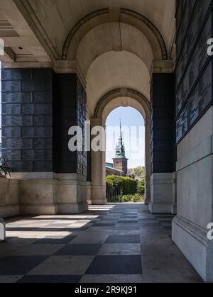
[[[173,241],[202,279],[213,281],[212,1],[177,1],[177,195]]]

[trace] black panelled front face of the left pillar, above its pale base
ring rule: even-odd
[[[2,155],[12,172],[53,172],[53,71],[2,69]]]

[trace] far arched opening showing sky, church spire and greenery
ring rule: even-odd
[[[146,176],[144,118],[136,108],[119,107],[109,113],[105,125],[106,166],[103,176],[106,177],[107,202],[143,202],[145,191],[143,193],[141,189]],[[113,182],[114,176],[134,179],[131,181],[133,189],[124,192],[121,186],[111,186],[107,181]]]

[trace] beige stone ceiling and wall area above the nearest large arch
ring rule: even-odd
[[[75,26],[80,29],[85,21],[89,28],[94,28],[99,21],[95,21],[93,15],[89,23],[87,16],[104,9],[109,10],[102,15],[105,23],[128,21],[127,15],[116,9],[147,18],[162,36],[170,55],[175,32],[175,0],[0,0],[0,38],[4,38],[6,47],[11,47],[15,55],[34,55],[35,60],[45,60],[48,55],[51,60],[60,60],[70,31]],[[88,32],[89,28],[84,30]]]

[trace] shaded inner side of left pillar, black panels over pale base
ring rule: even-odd
[[[68,130],[78,126],[85,138],[87,96],[77,74],[55,74],[55,82],[53,171],[58,174],[58,213],[81,213],[87,210],[87,152],[70,152]]]

